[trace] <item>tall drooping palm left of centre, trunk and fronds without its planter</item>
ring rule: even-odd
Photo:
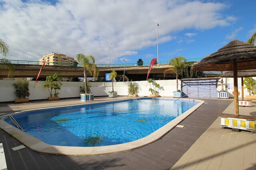
[[[77,61],[84,67],[84,83],[85,93],[88,94],[87,75],[86,72],[93,74],[93,78],[97,78],[99,75],[99,68],[95,64],[95,59],[92,55],[85,56],[83,53],[76,55]]]

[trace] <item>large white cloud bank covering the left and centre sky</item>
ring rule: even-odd
[[[0,38],[10,46],[8,59],[38,61],[58,52],[70,57],[93,55],[108,64],[124,55],[172,41],[171,33],[183,29],[211,29],[229,25],[220,3],[176,0],[59,0],[51,5],[39,0],[2,0]],[[187,35],[188,36],[188,35]]]

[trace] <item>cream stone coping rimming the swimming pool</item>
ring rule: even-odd
[[[184,99],[184,100],[187,100],[187,99]],[[197,100],[197,99],[193,99],[193,100],[199,101],[199,103],[191,107],[190,109],[188,109],[187,111],[185,111],[180,116],[176,117],[175,119],[173,119],[172,121],[164,125],[163,127],[154,131],[150,135],[144,138],[138,139],[136,141],[122,143],[118,145],[108,145],[108,146],[101,146],[101,147],[68,147],[68,146],[49,145],[21,131],[20,129],[17,129],[16,127],[10,125],[4,120],[0,120],[0,128],[6,133],[8,133],[9,135],[11,135],[12,137],[14,137],[16,140],[20,141],[26,147],[40,153],[60,154],[60,155],[96,155],[96,154],[124,152],[124,151],[143,147],[145,145],[148,145],[150,143],[153,143],[161,139],[164,135],[166,135],[169,131],[171,131],[174,127],[176,127],[181,121],[183,121],[184,119],[186,119],[186,117],[188,117],[191,113],[193,113],[198,107],[204,104],[204,101],[202,100]],[[108,102],[111,102],[111,101],[108,101]],[[103,103],[103,102],[96,102],[96,103]],[[96,103],[93,103],[93,104],[96,104]],[[81,104],[72,105],[72,106],[79,106],[79,105]],[[60,107],[66,107],[66,106],[60,106]],[[26,111],[32,111],[32,110],[38,110],[38,109],[30,109]],[[25,112],[25,111],[22,111],[22,112]],[[22,113],[22,112],[18,112],[18,113]],[[18,114],[18,113],[14,113],[14,114]]]

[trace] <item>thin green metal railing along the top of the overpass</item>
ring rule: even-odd
[[[187,62],[198,62],[203,58],[187,59]],[[25,60],[10,60],[13,64],[37,64],[42,65],[42,61],[25,61]],[[160,61],[159,64],[168,64],[169,61]],[[155,63],[157,64],[157,63]],[[60,65],[60,66],[72,66],[73,63],[58,63],[58,62],[46,62],[46,65]],[[122,63],[122,64],[96,64],[98,67],[123,67],[123,66],[149,66],[150,62],[146,63]],[[77,66],[81,66],[78,64]]]

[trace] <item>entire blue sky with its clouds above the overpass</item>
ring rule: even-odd
[[[38,61],[52,52],[96,64],[168,61],[216,52],[256,31],[255,0],[0,0],[0,39],[8,59]],[[110,45],[112,43],[112,45]]]

